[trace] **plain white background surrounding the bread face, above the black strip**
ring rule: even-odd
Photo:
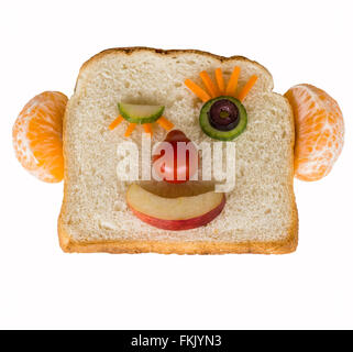
[[[0,328],[353,328],[352,1],[1,1]],[[310,82],[340,103],[332,173],[295,183],[299,246],[283,256],[64,254],[63,184],[30,176],[12,124],[34,95],[70,96],[101,50],[144,45],[243,55],[275,90]]]

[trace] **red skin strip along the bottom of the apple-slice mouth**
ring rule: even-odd
[[[203,213],[200,217],[185,219],[185,220],[157,219],[133,209],[130,205],[129,205],[129,208],[140,220],[155,228],[163,229],[163,230],[181,231],[181,230],[196,229],[209,223],[222,212],[224,206],[225,206],[225,196],[223,195],[222,201],[211,211]]]

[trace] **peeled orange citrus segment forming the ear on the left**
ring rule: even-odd
[[[63,117],[67,97],[44,91],[31,99],[12,129],[16,158],[31,174],[47,183],[64,177]]]

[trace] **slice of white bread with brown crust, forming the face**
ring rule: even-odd
[[[201,131],[202,102],[184,80],[202,82],[201,70],[213,77],[221,67],[227,82],[241,67],[238,90],[256,74],[244,100],[247,127],[236,143],[236,186],[227,194],[219,217],[186,231],[153,228],[133,216],[125,202],[129,183],[117,176],[118,143],[125,123],[108,129],[118,102],[163,105],[165,117],[196,143],[212,140]],[[221,57],[198,51],[132,47],[104,51],[80,69],[64,119],[65,190],[58,220],[65,252],[109,253],[289,253],[298,242],[298,217],[293,189],[295,130],[286,98],[273,91],[273,78],[244,57]],[[141,144],[142,128],[131,140]],[[153,142],[166,132],[154,127]],[[158,183],[163,184],[163,183]],[[147,185],[150,190],[155,187]],[[147,187],[147,188],[148,188]],[[192,188],[192,187],[191,187]],[[158,186],[156,186],[156,193]]]

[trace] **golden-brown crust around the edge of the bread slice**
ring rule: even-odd
[[[99,54],[92,56],[88,59],[80,68],[78,79],[82,72],[90,66],[97,59],[100,59],[104,55],[112,53],[122,53],[122,54],[132,54],[139,51],[150,51],[159,55],[178,55],[183,53],[197,53],[206,56],[211,56],[218,58],[221,62],[231,61],[231,59],[242,59],[257,65],[262,69],[266,70],[269,76],[271,73],[262,65],[256,62],[250,61],[243,56],[219,56],[208,52],[197,51],[197,50],[157,50],[151,47],[119,47],[119,48],[109,48]],[[77,81],[78,81],[77,79]],[[77,85],[77,82],[76,82]],[[76,88],[75,88],[76,90]],[[282,96],[283,97],[283,96]],[[285,98],[285,97],[283,97]],[[286,98],[285,98],[286,99]],[[67,179],[67,172],[64,172],[64,199],[62,211],[58,218],[58,239],[60,248],[66,253],[159,253],[159,254],[243,254],[243,253],[253,253],[253,254],[286,254],[295,252],[298,245],[298,211],[294,194],[294,143],[295,143],[295,124],[294,124],[294,114],[291,107],[286,99],[286,102],[290,111],[290,121],[291,121],[291,157],[288,160],[288,167],[290,168],[290,175],[288,177],[288,191],[291,197],[291,221],[288,234],[286,238],[279,241],[246,241],[246,242],[216,242],[216,241],[194,241],[194,242],[175,242],[175,241],[90,241],[90,242],[77,242],[75,241],[65,230],[65,224],[63,222],[63,213],[66,207],[66,184],[69,182]],[[68,111],[69,103],[64,116],[63,123],[63,140],[65,143],[65,131],[66,131],[66,116]],[[68,157],[64,148],[64,160]],[[66,163],[65,163],[66,164]],[[66,168],[66,165],[65,165]]]

